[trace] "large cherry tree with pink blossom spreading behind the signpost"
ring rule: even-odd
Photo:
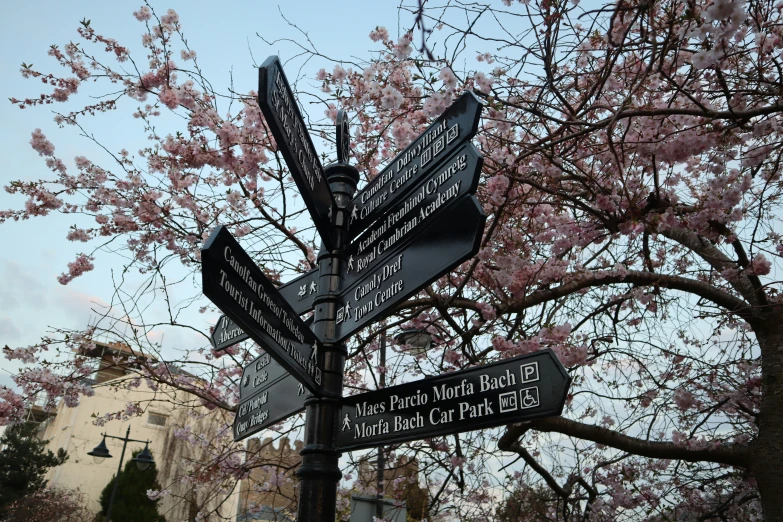
[[[369,180],[472,89],[486,102],[475,141],[489,217],[475,259],[352,340],[346,385],[361,391],[379,371],[393,382],[546,347],[574,378],[562,417],[391,448],[391,458],[420,463],[430,516],[491,518],[506,491],[533,499],[548,520],[783,520],[783,4],[503,0],[401,10],[415,22],[397,37],[376,28],[371,59],[312,72],[324,114],[312,132],[331,140],[345,109],[353,161]],[[56,106],[87,80],[108,82],[112,95],[56,122],[90,136],[90,116],[132,106],[150,145],[71,164],[34,130],[30,143],[52,174],[11,183],[26,203],[0,219],[94,219],[68,231],[91,250],[63,284],[122,242],[125,269],[165,296],[168,271],[198,273],[200,245],[218,223],[273,280],[312,267],[319,245],[256,93],[214,92],[176,13],[134,14],[143,56],[85,21],[80,43],[50,51],[64,73],[22,66],[50,89],[12,103]],[[304,55],[323,59],[300,40]],[[221,116],[228,102],[237,109]],[[156,122],[172,113],[183,117],[179,132],[159,134]],[[116,291],[101,327],[132,321],[126,342],[157,354],[155,364],[139,359],[139,378],[235,408],[252,348],[221,357],[205,337],[180,359],[164,357],[148,334],[178,325],[180,309],[145,317],[138,299]],[[380,339],[399,327],[426,329],[435,348],[394,346],[386,368],[374,367]],[[59,340],[77,353],[60,374],[35,367],[58,339],[8,350],[32,365],[16,377],[22,392],[45,388],[72,403],[89,394],[78,353],[92,335]],[[167,370],[185,360],[200,361],[199,371]],[[1,393],[7,421],[24,398]],[[260,465],[252,455],[226,459],[240,452],[227,436],[213,446],[204,480]]]

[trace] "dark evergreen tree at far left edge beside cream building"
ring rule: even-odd
[[[46,484],[46,470],[68,459],[62,448],[56,455],[46,449],[46,441],[36,431],[35,424],[20,423],[0,436],[0,517],[8,504]]]

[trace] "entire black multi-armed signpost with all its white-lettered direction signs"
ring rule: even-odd
[[[234,440],[307,411],[297,519],[334,521],[340,452],[559,415],[571,379],[551,350],[341,396],[344,341],[480,248],[483,158],[469,141],[479,99],[460,96],[356,194],[343,110],[338,162],[324,168],[276,56],[259,69],[258,103],[322,241],[318,268],[275,288],[219,226],[202,280],[225,314],[215,349],[250,338],[264,350],[243,369]],[[312,322],[299,317],[311,311]]]

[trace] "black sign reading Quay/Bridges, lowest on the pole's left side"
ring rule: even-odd
[[[308,396],[302,383],[292,375],[259,390],[250,399],[239,403],[234,417],[234,441],[247,438],[304,410]]]

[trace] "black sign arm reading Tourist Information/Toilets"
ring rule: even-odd
[[[224,227],[201,250],[204,295],[315,394],[321,388],[318,341]]]

